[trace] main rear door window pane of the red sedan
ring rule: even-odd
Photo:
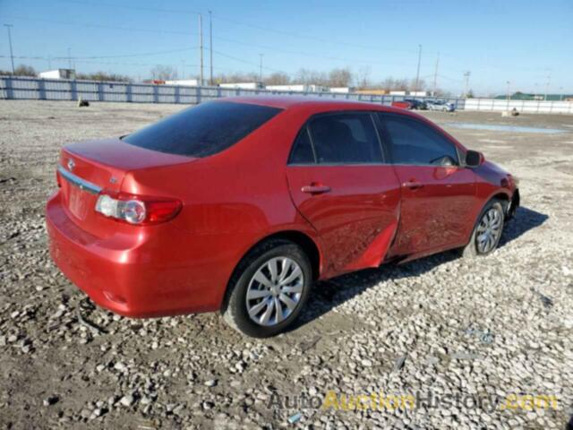
[[[309,123],[309,130],[319,164],[383,162],[370,113],[317,116]]]

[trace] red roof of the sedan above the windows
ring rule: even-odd
[[[332,110],[339,108],[340,110],[380,110],[387,112],[404,113],[403,108],[389,107],[358,100],[339,100],[339,99],[326,99],[321,97],[312,96],[241,96],[241,97],[227,97],[218,99],[218,101],[230,101],[235,103],[248,103],[252,105],[278,107],[281,109],[290,109],[293,107],[306,107],[316,110],[317,112],[322,109]]]

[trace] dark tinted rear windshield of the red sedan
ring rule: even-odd
[[[123,140],[148,150],[208,157],[239,142],[280,111],[276,107],[211,101],[167,116]]]

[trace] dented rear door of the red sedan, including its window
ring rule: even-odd
[[[295,205],[321,236],[325,274],[380,264],[398,222],[399,182],[369,112],[314,116],[286,168]]]

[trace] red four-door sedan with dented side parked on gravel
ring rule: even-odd
[[[93,301],[152,317],[218,311],[271,336],[315,280],[451,248],[490,254],[517,180],[404,109],[219,99],[121,138],[67,145],[52,258]]]

